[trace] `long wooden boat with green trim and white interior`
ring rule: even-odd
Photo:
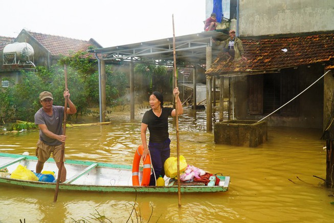
[[[37,158],[30,155],[0,153],[0,169],[7,168],[11,173],[21,164],[29,170],[35,170]],[[90,161],[66,160],[68,180],[59,184],[60,190],[99,191],[99,192],[178,192],[177,181],[171,181],[165,176],[165,186],[132,186],[132,166],[97,163]],[[43,170],[57,168],[54,160],[50,158]],[[219,186],[205,186],[203,183],[182,183],[181,192],[225,192],[228,190],[230,177],[218,176]],[[142,172],[139,173],[142,179]],[[36,187],[55,189],[56,183],[25,181],[12,179],[10,176],[0,176],[0,185],[18,185],[21,187]]]

